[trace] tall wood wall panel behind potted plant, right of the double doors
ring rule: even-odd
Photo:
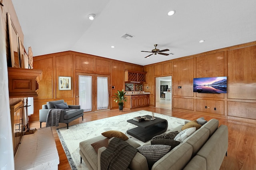
[[[115,86],[115,89],[111,89],[111,97],[114,96],[114,93],[124,89],[124,64],[117,63],[112,61],[111,67],[111,85]],[[117,109],[118,103],[114,102],[114,99],[111,99],[111,109]]]

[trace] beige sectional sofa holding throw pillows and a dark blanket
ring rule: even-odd
[[[172,131],[181,130],[182,125]],[[105,147],[98,150],[98,153],[91,146],[92,143],[106,137],[97,136],[80,142],[81,162],[84,160],[86,165],[93,170],[100,170],[100,154]],[[129,144],[137,148],[140,146],[135,141],[126,140]],[[150,144],[150,142],[146,143]],[[218,170],[222,164],[228,149],[228,128],[220,125],[216,119],[211,119],[201,128],[196,130],[182,143],[164,155],[153,166],[152,170]],[[129,165],[132,170],[148,170],[146,158],[136,153]]]

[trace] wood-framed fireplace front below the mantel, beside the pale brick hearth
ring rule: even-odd
[[[10,105],[11,113],[11,124],[12,124],[12,143],[14,155],[18,150],[20,140],[23,136],[23,111],[24,111],[24,101],[20,100],[16,103]]]

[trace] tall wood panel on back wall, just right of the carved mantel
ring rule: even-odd
[[[53,81],[53,58],[36,59],[34,57],[33,66],[34,69],[42,70],[42,80],[38,83],[38,97],[34,99],[53,99],[54,94],[54,83]]]

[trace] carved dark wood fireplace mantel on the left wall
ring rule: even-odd
[[[41,70],[8,67],[9,97],[38,96],[38,82],[41,79]]]

